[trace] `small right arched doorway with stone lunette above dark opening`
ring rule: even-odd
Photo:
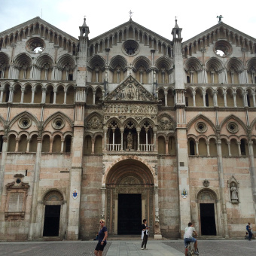
[[[203,189],[197,194],[201,236],[218,235],[217,195],[213,190]]]

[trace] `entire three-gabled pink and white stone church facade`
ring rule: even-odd
[[[0,33],[0,239],[242,237],[255,224],[256,39],[128,22]],[[172,35],[172,36],[171,36]]]

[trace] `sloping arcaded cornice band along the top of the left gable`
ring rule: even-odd
[[[32,20],[28,20],[25,23],[21,23],[17,26],[12,27],[11,29],[7,29],[3,32],[0,32],[0,38],[4,38],[6,35],[10,36],[11,34],[15,34],[16,32],[23,32],[23,30],[26,30],[28,27],[31,29],[32,34],[33,26],[36,25],[41,25],[42,27],[47,28],[48,30],[56,33],[57,35],[61,35],[62,38],[66,38],[67,40],[71,40],[73,42],[78,42],[77,38],[73,37],[72,35],[69,35],[66,32],[63,32],[61,29],[56,28],[56,26],[47,23],[40,17],[35,17]]]

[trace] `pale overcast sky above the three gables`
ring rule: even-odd
[[[0,6],[0,32],[42,16],[47,23],[78,38],[78,27],[86,15],[89,38],[94,38],[128,21],[132,10],[133,21],[170,40],[175,16],[183,29],[183,41],[214,26],[218,15],[224,17],[224,23],[256,38],[253,0],[0,0]]]

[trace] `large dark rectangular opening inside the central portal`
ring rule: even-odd
[[[118,194],[118,235],[139,235],[142,227],[142,194]]]

